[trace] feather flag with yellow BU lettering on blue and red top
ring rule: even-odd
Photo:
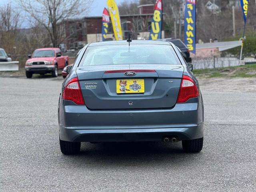
[[[154,15],[151,22],[151,30],[149,34],[149,40],[156,40],[162,38],[162,12],[163,4],[162,0],[156,0]]]

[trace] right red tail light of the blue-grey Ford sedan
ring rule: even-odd
[[[195,82],[189,76],[183,75],[177,103],[184,103],[188,99],[198,96],[199,92]]]

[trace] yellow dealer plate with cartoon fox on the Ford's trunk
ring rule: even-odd
[[[116,93],[144,93],[144,79],[117,79]]]

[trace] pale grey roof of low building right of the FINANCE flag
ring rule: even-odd
[[[224,50],[232,49],[238,46],[241,46],[241,41],[224,41],[224,42],[196,44],[196,49],[218,48],[219,51],[224,51]]]

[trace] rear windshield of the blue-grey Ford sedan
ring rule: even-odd
[[[180,65],[170,45],[116,44],[91,46],[86,49],[82,66],[115,64],[167,64]],[[80,64],[81,65],[81,64]]]

